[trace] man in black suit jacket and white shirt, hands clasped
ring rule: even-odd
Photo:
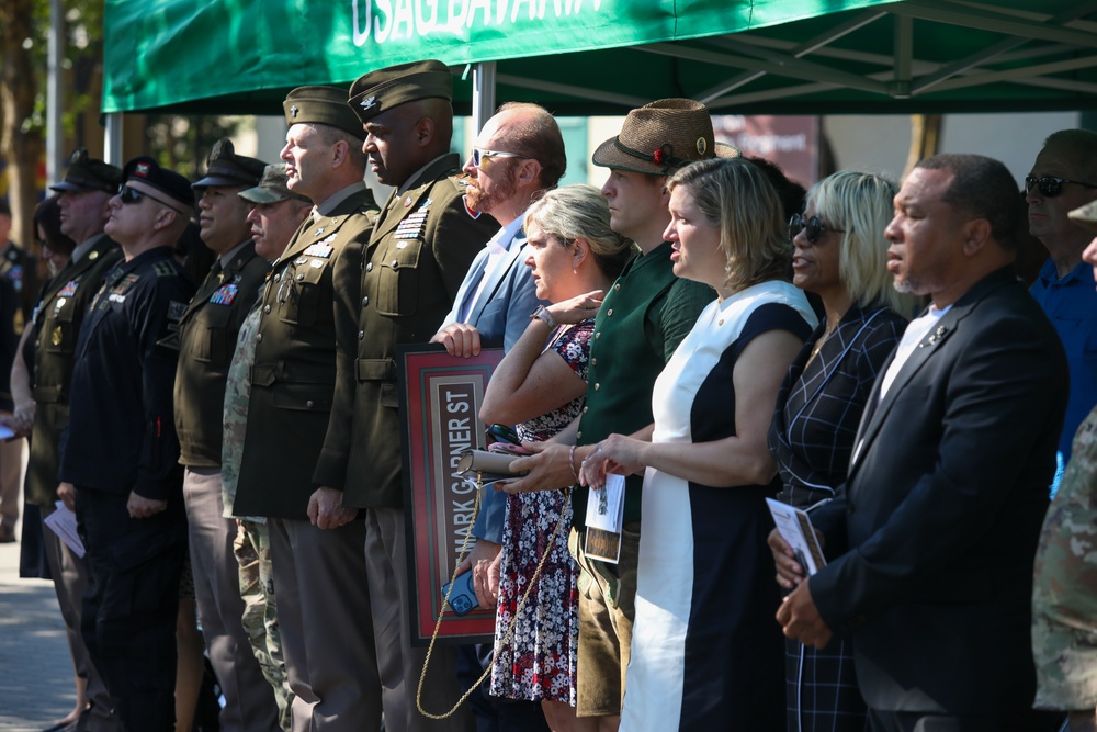
[[[813,514],[810,579],[770,537],[777,619],[822,647],[851,635],[874,731],[1055,729],[1031,711],[1032,560],[1066,404],[1063,348],[1013,275],[1016,184],[940,155],[895,196],[887,268],[932,304],[861,420],[849,478]]]

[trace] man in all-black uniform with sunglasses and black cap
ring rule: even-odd
[[[127,730],[174,725],[176,617],[186,551],[171,394],[174,327],[194,286],[172,256],[194,209],[190,182],[134,158],[106,233],[124,261],[89,306],[76,347],[60,480],[91,568],[83,640]]]

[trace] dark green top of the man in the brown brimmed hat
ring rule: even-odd
[[[606,293],[595,318],[587,364],[587,404],[576,444],[593,444],[612,432],[631,435],[651,425],[655,380],[705,305],[716,299],[706,284],[675,277],[670,244],[633,257]],[[625,477],[624,521],[640,520],[643,475]],[[576,491],[573,522],[586,525],[587,492]]]

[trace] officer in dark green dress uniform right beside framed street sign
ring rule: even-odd
[[[430,722],[416,708],[425,649],[410,645],[394,360],[397,344],[426,344],[443,325],[473,258],[499,228],[465,206],[455,178],[452,80],[445,65],[422,61],[366,74],[350,90],[371,167],[396,190],[360,272],[358,331],[340,340],[346,350],[315,481],[340,489],[344,505],[365,509],[373,632],[392,732],[459,729],[467,713]],[[452,647],[434,649],[425,708],[442,711],[456,701],[454,660]]]

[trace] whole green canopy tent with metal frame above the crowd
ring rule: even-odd
[[[293,87],[431,57],[464,78],[465,113],[493,91],[558,114],[670,95],[744,114],[1094,109],[1097,1],[1034,5],[108,0],[103,111],[279,114]]]

